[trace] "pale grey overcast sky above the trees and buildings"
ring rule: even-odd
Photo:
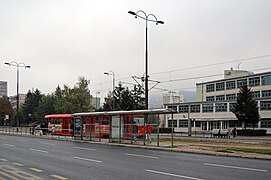
[[[20,69],[21,93],[52,93],[84,76],[91,94],[103,97],[112,89],[109,70],[117,82],[135,83],[131,76],[145,72],[145,21],[130,10],[165,22],[148,24],[157,88],[195,91],[197,82],[223,78],[196,77],[231,67],[271,70],[270,0],[0,0],[0,80],[8,81],[8,95],[16,94],[16,68],[4,64],[10,61],[31,66]],[[211,66],[222,62],[229,63]]]

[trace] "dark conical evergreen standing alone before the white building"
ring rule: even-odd
[[[253,92],[251,88],[245,84],[240,88],[240,92],[237,95],[237,101],[233,105],[231,111],[235,114],[239,122],[245,124],[252,124],[254,126],[260,121],[259,109],[257,102],[253,98]]]

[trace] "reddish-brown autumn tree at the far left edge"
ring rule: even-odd
[[[9,116],[9,120],[12,119],[13,109],[7,98],[0,98],[0,125],[4,125],[6,115]],[[6,120],[7,121],[7,120]],[[6,122],[10,123],[10,122]]]

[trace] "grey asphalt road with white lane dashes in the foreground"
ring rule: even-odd
[[[0,180],[270,178],[267,160],[0,136]]]

